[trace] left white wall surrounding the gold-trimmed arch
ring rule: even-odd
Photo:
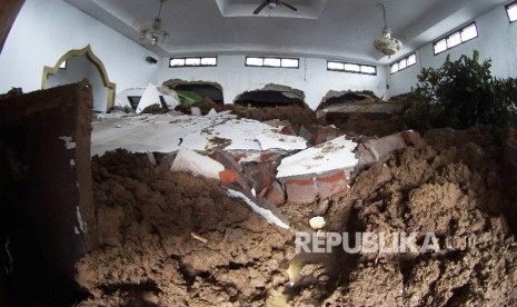
[[[157,82],[158,67],[145,60],[156,55],[62,0],[26,0],[0,55],[0,92],[40,89],[44,66],[87,44],[117,91]]]

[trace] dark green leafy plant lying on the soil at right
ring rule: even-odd
[[[447,57],[438,68],[424,68],[412,107],[404,116],[407,126],[428,129],[451,127],[465,129],[484,125],[515,125],[517,121],[516,79],[494,78],[491,60],[479,62],[479,52],[456,61]]]

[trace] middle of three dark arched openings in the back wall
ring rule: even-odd
[[[304,91],[272,83],[267,85],[262,89],[242,92],[237,96],[235,103],[255,108],[281,106],[307,107]]]

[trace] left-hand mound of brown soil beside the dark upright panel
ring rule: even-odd
[[[102,248],[77,264],[92,294],[80,306],[260,306],[287,281],[279,268],[292,256],[291,235],[218,181],[122,150],[92,165]]]

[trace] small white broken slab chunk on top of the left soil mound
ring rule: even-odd
[[[206,178],[220,179],[219,172],[225,170],[225,166],[196,151],[181,149],[178,151],[170,170],[188,171]]]

